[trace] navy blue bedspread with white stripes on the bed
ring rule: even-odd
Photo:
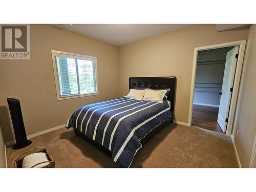
[[[66,127],[86,134],[112,152],[112,159],[130,167],[140,140],[170,117],[169,105],[117,98],[84,105],[69,118]]]

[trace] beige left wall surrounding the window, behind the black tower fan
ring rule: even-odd
[[[99,95],[57,101],[51,49],[97,57]],[[6,98],[20,100],[27,135],[65,124],[79,106],[119,94],[118,48],[49,25],[30,25],[30,60],[0,60],[0,125],[14,139]]]

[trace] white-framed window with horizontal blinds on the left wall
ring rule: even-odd
[[[98,94],[97,58],[52,50],[58,100]]]

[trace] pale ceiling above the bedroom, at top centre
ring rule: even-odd
[[[129,44],[140,39],[181,29],[185,24],[75,24],[52,25],[71,32],[86,35],[115,46]]]

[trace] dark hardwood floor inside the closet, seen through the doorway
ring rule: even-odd
[[[217,123],[219,108],[193,104],[192,125],[223,133]]]

